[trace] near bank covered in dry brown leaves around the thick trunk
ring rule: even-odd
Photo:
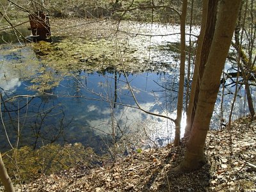
[[[256,120],[239,119],[231,129],[209,131],[207,164],[191,173],[175,173],[186,143],[150,148],[102,163],[41,175],[22,191],[256,191]],[[170,190],[168,190],[168,188]],[[15,191],[21,191],[16,186]]]

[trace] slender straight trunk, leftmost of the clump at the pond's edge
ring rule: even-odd
[[[183,0],[182,13],[180,15],[180,81],[179,81],[179,96],[177,102],[177,118],[175,119],[175,138],[174,145],[180,143],[180,122],[182,118],[183,108],[183,93],[184,93],[184,78],[185,78],[185,59],[186,59],[186,14],[188,0]]]

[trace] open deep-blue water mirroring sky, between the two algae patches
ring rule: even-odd
[[[7,70],[5,74],[8,77]],[[4,122],[0,125],[1,148],[9,149],[10,143],[15,147],[19,138],[19,147],[81,142],[101,152],[106,148],[104,139],[111,143],[112,122],[118,140],[122,134],[130,132],[131,127],[156,119],[136,109],[138,106],[127,80],[141,108],[162,114],[166,103],[159,84],[166,76],[164,72],[127,74],[127,77],[121,72],[72,72],[63,77],[58,86],[45,91],[47,93],[30,90],[33,79],[10,78],[1,83],[3,100],[15,95],[24,96],[1,104]]]

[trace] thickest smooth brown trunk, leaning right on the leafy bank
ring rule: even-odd
[[[236,27],[240,4],[241,0],[220,1],[214,38],[200,84],[191,136],[189,137],[184,161],[175,170],[191,171],[205,164],[205,138],[209,131],[214,104],[220,89],[221,73]]]

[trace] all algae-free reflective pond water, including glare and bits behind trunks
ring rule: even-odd
[[[155,33],[170,32],[166,26],[149,28]],[[134,29],[139,28],[135,26]],[[174,34],[179,32],[179,28],[172,30]],[[31,145],[38,148],[47,143],[80,142],[102,152],[113,142],[113,135],[116,141],[127,137],[127,140],[131,140],[129,143],[135,145],[137,142],[142,147],[152,145],[151,141],[157,145],[168,143],[174,135],[174,124],[166,118],[148,115],[141,109],[175,118],[179,86],[177,54],[166,49],[150,49],[149,52],[148,47],[166,47],[170,41],[178,40],[179,34],[129,39],[131,47],[140,45],[140,49],[132,52],[138,58],[137,61],[145,62],[142,56],[146,55],[151,67],[143,72],[126,74],[108,67],[100,72],[71,70],[63,75],[54,68],[45,67],[47,63],[42,63],[31,47],[1,45],[1,150],[8,150],[11,146]],[[164,67],[161,65],[163,63]],[[227,62],[225,70],[231,67]],[[43,90],[44,93],[36,90],[38,81],[35,79],[49,74],[54,78],[50,78],[47,83],[54,86]],[[234,86],[230,85],[223,90],[225,97],[222,103],[221,92],[220,87],[212,116],[212,129],[220,127],[221,112],[227,122]],[[233,118],[246,111],[241,86]],[[183,128],[185,122],[184,116]]]

